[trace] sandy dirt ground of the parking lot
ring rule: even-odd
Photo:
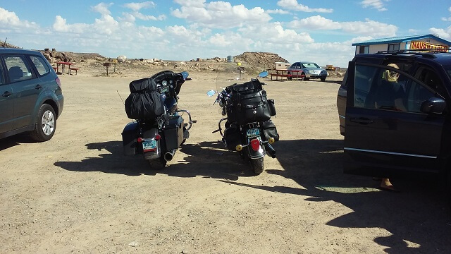
[[[438,183],[393,179],[402,193],[388,193],[342,174],[338,80],[265,81],[280,141],[253,176],[211,133],[215,73],[183,85],[179,105],[197,123],[168,167],[125,157],[121,97],[144,71],[60,75],[54,138],[0,141],[0,253],[451,252]]]

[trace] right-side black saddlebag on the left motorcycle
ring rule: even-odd
[[[163,138],[166,143],[166,151],[180,147],[183,142],[183,118],[171,116],[163,126]]]

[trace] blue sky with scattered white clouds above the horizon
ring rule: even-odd
[[[353,42],[424,34],[451,41],[450,1],[0,1],[1,41],[107,57],[187,61],[272,52],[345,67]]]

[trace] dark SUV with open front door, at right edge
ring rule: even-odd
[[[440,176],[451,197],[451,53],[357,54],[338,90],[344,171]]]

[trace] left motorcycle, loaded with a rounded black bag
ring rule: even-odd
[[[122,132],[125,155],[144,155],[151,167],[165,167],[175,151],[190,137],[191,114],[178,109],[178,94],[187,72],[161,71],[150,78],[130,83],[130,95],[125,99],[129,119]],[[186,113],[189,121],[184,123]]]

